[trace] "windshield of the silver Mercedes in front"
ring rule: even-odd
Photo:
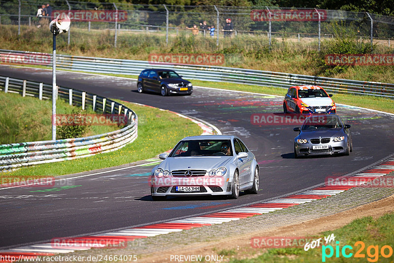
[[[232,156],[230,140],[180,141],[169,157]]]

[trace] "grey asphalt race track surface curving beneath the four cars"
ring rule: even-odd
[[[52,83],[51,71],[42,69],[0,66],[0,75]],[[63,181],[60,191],[51,187],[45,192],[41,187],[2,189],[2,248],[209,213],[281,196],[323,183],[328,176],[356,171],[394,149],[394,116],[355,107],[337,106],[338,114],[352,125],[354,150],[350,156],[294,159],[296,126],[251,123],[252,114],[281,113],[283,98],[206,88],[194,88],[192,96],[162,97],[138,94],[135,80],[60,71],[57,83],[173,110],[207,121],[223,134],[239,136],[260,164],[260,192],[236,200],[200,197],[154,202],[148,182],[153,165],[69,179]]]

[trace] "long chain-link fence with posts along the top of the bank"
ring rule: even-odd
[[[335,38],[351,36],[390,47],[394,37],[394,17],[343,10],[59,2],[51,6],[51,16],[41,17],[37,10],[42,1],[0,0],[0,24],[18,26],[18,34],[28,27],[47,30],[49,20],[65,12],[71,28],[58,41],[70,45],[93,38],[102,48],[141,48],[135,45],[140,41],[147,49],[186,47],[196,44],[189,38],[205,38],[198,42],[202,49],[239,48],[242,43],[247,52],[292,42],[320,50],[322,41]]]

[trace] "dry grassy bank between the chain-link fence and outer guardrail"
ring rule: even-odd
[[[369,43],[346,35],[335,38],[340,40],[323,40],[321,52],[318,52],[314,39],[297,43],[285,36],[273,38],[272,48],[269,50],[266,35],[240,34],[237,37],[223,38],[217,47],[214,38],[202,35],[195,37],[184,32],[170,35],[166,45],[163,33],[120,31],[117,38],[118,48],[114,48],[114,34],[108,30],[88,32],[73,28],[71,32],[70,45],[67,45],[67,34],[58,36],[59,54],[146,61],[149,54],[153,53],[220,53],[225,56],[224,64],[220,66],[394,83],[392,66],[327,66],[324,61],[327,54],[370,53]],[[16,26],[0,26],[3,49],[51,53],[52,42],[47,41],[50,37],[46,28],[25,26],[18,36]],[[393,53],[393,48],[375,45],[374,53]]]

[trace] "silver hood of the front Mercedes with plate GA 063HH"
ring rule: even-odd
[[[159,167],[163,170],[207,170],[217,169],[225,166],[232,156],[213,156],[213,157],[169,157],[165,159]]]

